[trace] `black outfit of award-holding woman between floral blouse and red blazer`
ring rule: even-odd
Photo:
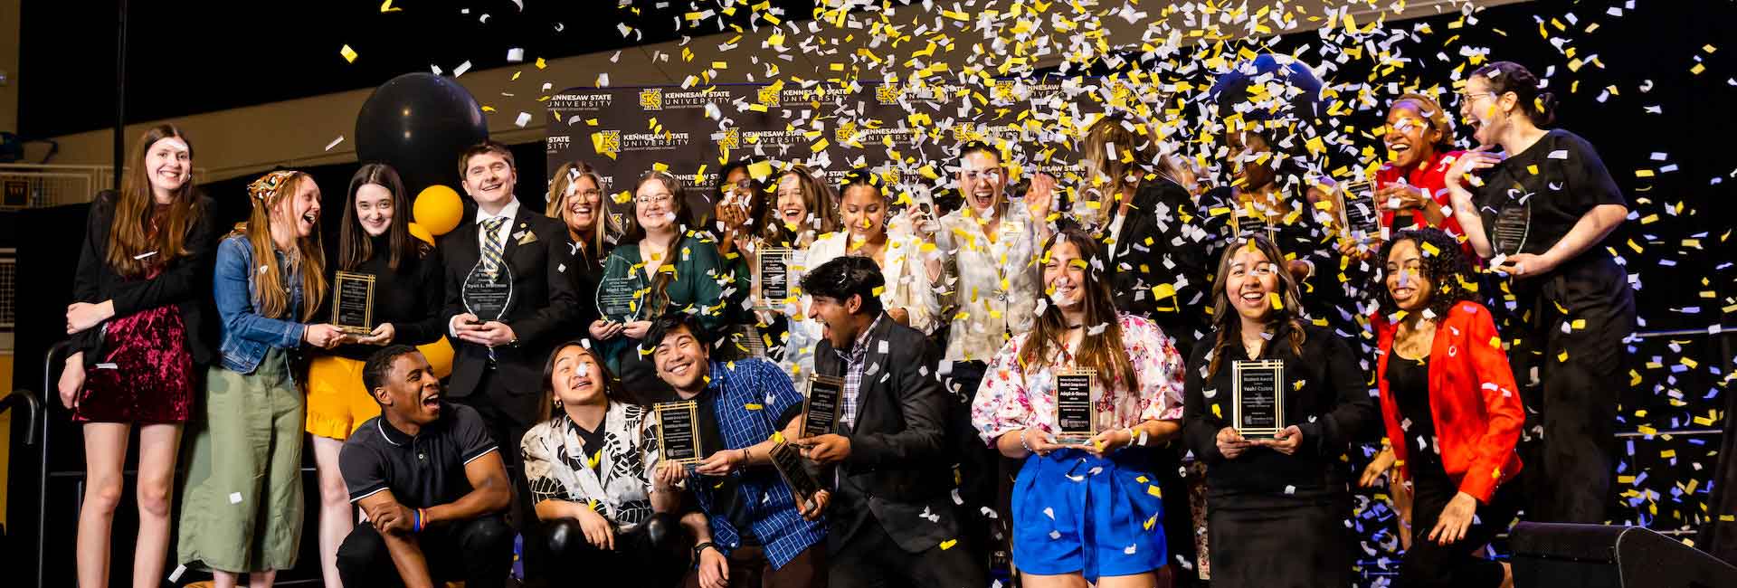
[[[1212,588],[1344,588],[1351,581],[1355,538],[1350,472],[1339,458],[1372,434],[1379,411],[1351,349],[1332,331],[1304,326],[1301,350],[1289,326],[1263,345],[1261,357],[1284,361],[1285,423],[1303,430],[1294,454],[1252,448],[1235,460],[1218,451],[1230,425],[1233,363],[1247,361],[1228,345],[1207,375],[1212,340],[1202,340],[1185,376],[1183,441],[1207,465],[1207,546]]]

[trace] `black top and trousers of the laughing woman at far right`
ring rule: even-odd
[[[1520,253],[1548,252],[1595,206],[1628,206],[1593,146],[1560,128],[1509,154],[1483,180],[1475,203],[1485,234],[1494,245],[1497,219],[1522,220]],[[1636,321],[1628,274],[1602,245],[1549,274],[1509,281],[1511,295],[1492,288],[1503,298],[1489,307],[1506,309],[1501,333],[1529,408],[1525,430],[1544,432],[1520,442],[1532,520],[1598,524],[1610,503],[1617,399],[1629,380],[1622,340]]]

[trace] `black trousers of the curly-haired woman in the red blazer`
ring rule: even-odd
[[[1503,564],[1476,557],[1497,532],[1508,531],[1520,508],[1515,484],[1504,484],[1490,494],[1489,505],[1478,505],[1476,519],[1466,527],[1466,536],[1450,545],[1430,541],[1430,531],[1447,503],[1459,494],[1459,486],[1447,477],[1438,461],[1412,463],[1412,546],[1400,562],[1400,579],[1395,586],[1447,588],[1447,586],[1501,586]]]

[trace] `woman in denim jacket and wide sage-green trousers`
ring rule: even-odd
[[[269,586],[295,567],[306,425],[295,352],[344,335],[316,317],[328,284],[313,177],[271,172],[247,193],[247,225],[217,245],[221,364],[205,375],[179,527],[179,560],[210,569],[219,588],[240,574]]]

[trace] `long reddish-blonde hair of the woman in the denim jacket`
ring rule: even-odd
[[[301,189],[302,182],[313,180],[313,177],[302,172],[271,172],[247,187],[254,212],[248,213],[247,224],[238,225],[229,236],[247,236],[247,243],[254,250],[254,264],[261,267],[250,269],[247,278],[254,281],[254,312],[259,316],[281,319],[290,312],[288,288],[283,284],[285,267],[278,265],[276,245],[271,241],[271,210],[283,199],[295,198],[295,191]],[[327,290],[320,220],[314,220],[313,232],[306,238],[297,238],[295,250],[297,257],[290,262],[290,271],[301,271],[302,274],[301,319],[313,321],[320,302],[325,300]]]

